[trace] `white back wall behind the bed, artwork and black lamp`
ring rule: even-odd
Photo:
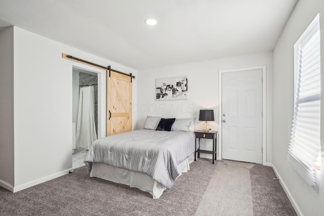
[[[163,117],[195,117],[195,129],[201,129],[198,121],[199,110],[210,108],[215,111],[215,122],[210,122],[213,130],[218,130],[218,71],[266,65],[267,80],[267,158],[271,162],[271,107],[272,107],[272,52],[222,58],[211,61],[166,66],[138,71],[138,100],[136,128],[143,128],[147,115]],[[155,101],[155,79],[174,76],[188,76],[188,100]],[[211,149],[211,140],[201,140],[204,149]],[[206,155],[211,156],[211,155]]]

